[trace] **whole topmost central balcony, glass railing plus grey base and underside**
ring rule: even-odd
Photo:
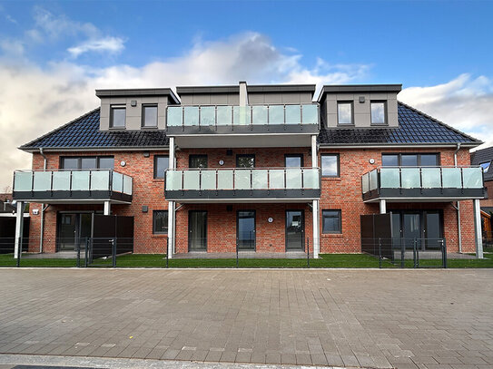
[[[182,148],[310,146],[319,117],[316,103],[169,106],[167,134]]]

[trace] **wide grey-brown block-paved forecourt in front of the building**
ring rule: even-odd
[[[0,353],[493,367],[493,269],[0,269]]]

